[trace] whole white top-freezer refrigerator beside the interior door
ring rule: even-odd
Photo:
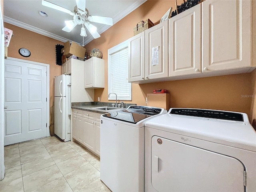
[[[71,76],[54,78],[54,134],[63,141],[71,140]]]

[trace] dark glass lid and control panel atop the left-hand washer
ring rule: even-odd
[[[136,124],[154,115],[162,114],[164,109],[148,106],[129,106],[126,110],[110,112],[102,116]]]

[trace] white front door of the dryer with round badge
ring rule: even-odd
[[[151,159],[159,192],[244,191],[244,165],[236,158],[153,136]]]

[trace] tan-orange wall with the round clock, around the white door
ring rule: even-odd
[[[4,22],[4,27],[13,30],[8,47],[8,57],[30,60],[50,65],[50,108],[54,102],[54,76],[61,74],[61,66],[55,64],[55,45],[62,44],[58,40],[31,32],[29,30]],[[31,52],[30,57],[22,57],[18,50],[27,48]],[[51,114],[50,114],[51,115]],[[50,118],[51,119],[51,118]],[[51,122],[50,122],[51,124]]]

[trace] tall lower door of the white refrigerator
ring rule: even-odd
[[[66,97],[54,97],[54,134],[66,139]]]

